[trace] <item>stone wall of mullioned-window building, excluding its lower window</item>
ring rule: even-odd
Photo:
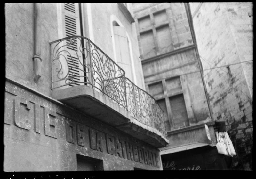
[[[142,69],[146,90],[149,91],[148,85],[152,83],[161,82],[163,79],[180,77],[189,125],[197,125],[211,121],[196,58],[196,46],[193,47],[192,35],[184,3],[133,3],[133,11],[137,26],[140,54],[142,59],[145,60],[142,61]],[[165,16],[160,16],[159,14],[164,14],[161,13],[163,11],[166,12]],[[159,25],[167,24],[169,28],[163,31],[161,35],[165,36],[166,34],[170,34],[171,43],[169,42],[169,45],[171,47],[166,47],[165,44],[163,44],[163,37],[162,41],[159,42],[159,36],[157,35]],[[149,37],[150,34],[146,32],[151,29],[153,43],[157,44],[154,48],[156,53],[144,54],[143,46],[147,44],[144,43],[142,39],[145,34],[148,35],[145,39]],[[155,30],[156,33],[154,32]],[[183,47],[188,47],[188,49],[171,54],[171,52]],[[156,57],[156,55],[161,54],[166,55]]]

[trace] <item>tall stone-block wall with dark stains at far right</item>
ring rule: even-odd
[[[252,170],[253,4],[190,6],[213,118],[226,122],[233,169]]]

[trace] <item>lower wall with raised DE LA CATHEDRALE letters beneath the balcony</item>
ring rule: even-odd
[[[4,106],[4,171],[76,171],[76,154],[104,170],[162,169],[158,149],[12,82]]]

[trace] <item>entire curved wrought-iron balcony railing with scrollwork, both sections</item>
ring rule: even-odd
[[[133,118],[167,136],[166,116],[156,100],[126,78],[124,70],[90,39],[69,36],[50,45],[53,90],[91,85],[129,111]]]

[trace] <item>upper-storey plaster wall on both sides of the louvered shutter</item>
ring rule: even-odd
[[[50,42],[60,37],[58,34],[58,16],[56,3],[41,5],[41,78],[33,81],[33,50],[34,50],[34,4],[7,3],[5,4],[5,33],[6,33],[6,77],[28,85],[52,96],[52,62]],[[15,13],[14,13],[15,12]],[[143,73],[138,50],[136,29],[125,18],[116,3],[91,4],[92,30],[95,44],[110,58],[113,58],[110,15],[114,14],[123,23],[130,36],[136,71],[137,85],[144,89]],[[100,13],[99,13],[100,12]],[[87,16],[84,17],[87,20]],[[131,79],[133,81],[133,79]]]

